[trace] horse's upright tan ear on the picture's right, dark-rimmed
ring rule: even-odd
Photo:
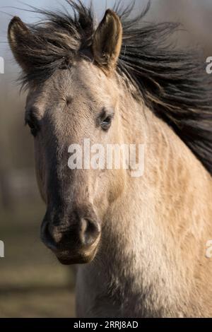
[[[93,56],[104,71],[114,71],[122,48],[122,23],[114,11],[107,9],[93,37]]]

